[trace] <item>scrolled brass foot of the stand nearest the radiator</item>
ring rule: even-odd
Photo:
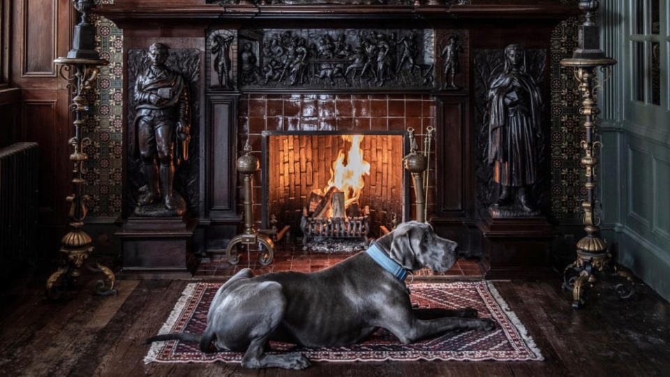
[[[73,235],[77,237],[71,237]],[[73,239],[91,239],[86,232],[82,230],[73,230],[69,232],[63,239],[66,238]],[[89,258],[91,252],[93,251],[93,246],[90,246],[90,243],[84,244],[78,248],[70,249],[68,246],[63,246],[60,249],[61,253],[64,254],[64,261],[61,267],[57,269],[56,272],[49,276],[47,279],[46,293],[47,297],[52,300],[57,300],[61,295],[63,295],[66,288],[72,286],[72,284],[81,276],[80,269],[84,265],[84,261]],[[105,275],[105,279],[98,280],[96,282],[95,293],[99,296],[109,296],[117,295],[117,290],[114,289],[114,281],[116,280],[114,272],[111,269],[101,265],[96,262],[96,267],[91,267],[86,265],[87,269],[91,272],[102,272]]]

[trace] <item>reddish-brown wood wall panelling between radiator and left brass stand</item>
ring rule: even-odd
[[[67,222],[72,151],[67,82],[53,59],[70,50],[73,13],[69,0],[21,0],[11,8],[10,84],[20,88],[15,141],[40,145],[40,226],[48,240],[42,246],[54,252]]]

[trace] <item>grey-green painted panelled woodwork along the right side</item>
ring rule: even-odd
[[[661,14],[667,2],[660,1]],[[602,1],[603,50],[618,60],[600,94],[603,235],[618,262],[670,300],[668,24],[661,22],[661,105],[632,101],[634,1]]]

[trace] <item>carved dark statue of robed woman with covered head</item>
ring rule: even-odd
[[[496,207],[514,202],[535,212],[530,185],[537,182],[537,148],[541,140],[542,98],[537,83],[526,71],[526,52],[520,45],[505,47],[504,70],[489,87],[489,155],[493,180],[501,187]]]

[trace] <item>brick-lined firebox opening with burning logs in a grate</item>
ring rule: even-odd
[[[405,131],[264,131],[262,137],[264,228],[272,219],[290,226],[294,237],[366,243],[408,219]],[[338,199],[343,207],[334,204]]]

